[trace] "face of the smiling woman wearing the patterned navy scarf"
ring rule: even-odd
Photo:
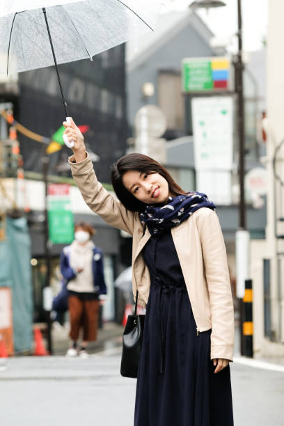
[[[125,188],[145,204],[165,203],[168,200],[168,182],[159,173],[148,174],[127,171],[123,175]]]

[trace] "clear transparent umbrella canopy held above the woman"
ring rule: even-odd
[[[160,4],[158,0],[1,0],[0,73],[54,65],[42,8],[56,62],[67,63],[92,58],[153,29]]]

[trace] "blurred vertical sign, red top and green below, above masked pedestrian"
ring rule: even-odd
[[[49,184],[47,205],[50,241],[53,244],[70,244],[74,239],[70,185]]]

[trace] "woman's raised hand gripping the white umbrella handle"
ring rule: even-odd
[[[83,161],[86,158],[84,136],[81,134],[71,117],[67,117],[66,121],[63,121],[63,126],[65,127],[65,131],[63,133],[63,141],[65,142],[65,145],[72,149],[77,163],[79,161]]]

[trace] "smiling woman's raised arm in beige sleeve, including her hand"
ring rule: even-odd
[[[125,209],[120,201],[116,200],[102,184],[98,182],[93,163],[88,157],[84,144],[84,136],[71,118],[71,123],[63,122],[65,134],[69,141],[74,141],[69,157],[72,176],[79,187],[81,194],[91,210],[97,213],[109,225],[133,234],[136,214]]]

